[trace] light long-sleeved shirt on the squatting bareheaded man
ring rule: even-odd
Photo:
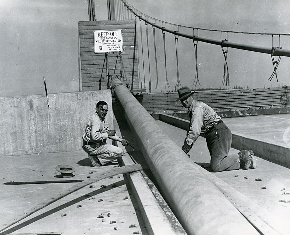
[[[107,138],[118,140],[119,136],[108,136],[107,131],[109,127],[106,125],[105,120],[102,120],[97,113],[94,113],[86,126],[84,135],[82,136],[83,141],[85,142],[101,142]]]

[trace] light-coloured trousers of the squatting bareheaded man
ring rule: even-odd
[[[116,160],[124,154],[120,147],[111,144],[104,144],[99,147],[96,144],[84,144],[82,148],[87,154],[97,157],[102,165],[107,164],[112,160]]]

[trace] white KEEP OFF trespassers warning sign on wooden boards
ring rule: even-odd
[[[122,30],[95,30],[95,53],[123,51]]]

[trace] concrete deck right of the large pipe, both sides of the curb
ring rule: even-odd
[[[265,136],[267,141],[273,141],[274,139],[277,144],[282,142],[282,144],[288,145],[288,139],[285,136],[289,134],[289,114],[271,115],[270,117],[236,117],[223,120],[236,134],[247,134],[259,139],[263,139]],[[175,143],[180,146],[183,145],[186,136],[185,130],[161,121],[157,122],[172,137]],[[229,153],[236,152],[238,150],[231,148]],[[189,154],[195,163],[206,167],[209,166],[210,156],[203,137],[196,141]],[[269,212],[271,225],[279,230],[280,233],[289,234],[290,203],[279,202],[279,200],[290,200],[290,195],[283,194],[284,192],[290,192],[290,169],[259,157],[255,158],[257,159],[257,169],[240,169],[211,174],[245,195],[249,200],[248,205],[251,205],[253,211],[259,213],[260,208],[261,212],[263,210]],[[211,171],[209,167],[206,169]],[[261,181],[255,181],[257,178],[261,178]],[[214,178],[212,179],[214,180]],[[262,189],[262,187],[266,187],[266,189]],[[283,188],[285,190],[282,190]],[[258,207],[253,208],[253,203]]]

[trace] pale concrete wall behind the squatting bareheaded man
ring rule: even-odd
[[[82,135],[99,100],[108,103],[106,123],[113,128],[110,90],[0,97],[0,156],[82,149]]]

